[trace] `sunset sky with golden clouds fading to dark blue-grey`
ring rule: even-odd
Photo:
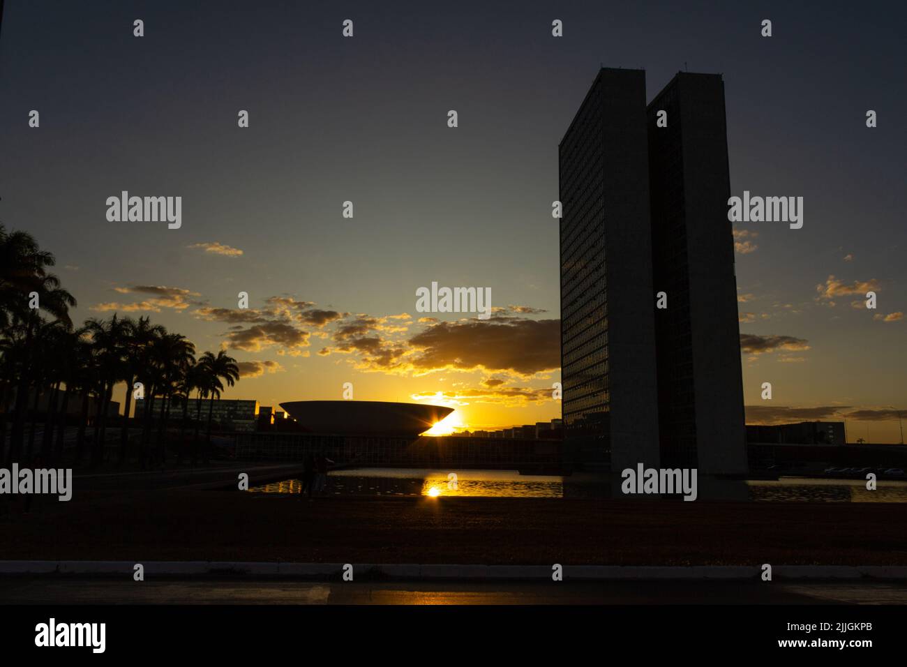
[[[797,5],[7,2],[0,221],[54,252],[77,321],[150,315],[227,348],[244,377],[225,397],[350,382],[456,407],[452,426],[546,421],[558,142],[601,65],[645,69],[649,99],[721,73],[732,194],[805,202],[800,230],[736,225],[747,421],[896,442],[907,10]],[[180,229],[108,221],[121,191],[181,196]],[[490,288],[493,318],[418,312],[433,281]]]

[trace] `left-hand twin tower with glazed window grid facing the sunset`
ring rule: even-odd
[[[602,69],[561,140],[567,456],[658,465],[646,74]]]

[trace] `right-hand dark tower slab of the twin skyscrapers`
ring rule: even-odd
[[[657,126],[665,111],[667,127]],[[649,104],[658,430],[663,467],[746,472],[725,88],[678,73]]]

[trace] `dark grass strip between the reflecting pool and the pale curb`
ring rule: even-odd
[[[23,514],[0,560],[907,564],[907,505],[326,497],[99,485]]]

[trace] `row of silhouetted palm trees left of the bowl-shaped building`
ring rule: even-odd
[[[114,313],[110,319],[92,318],[74,326],[70,309],[76,299],[49,271],[54,264],[54,255],[41,250],[31,234],[0,225],[0,452],[6,452],[6,466],[38,456],[45,464],[60,460],[73,397],[81,401],[75,463],[86,459],[92,466],[101,463],[108,427],[116,427],[109,423],[108,412],[119,383],[126,386],[119,424],[121,463],[137,456],[142,467],[161,464],[172,421],[179,423],[178,456],[190,456],[193,463],[200,457],[207,461],[214,401],[225,386],[239,381],[236,360],[223,350],[196,357],[189,339],[147,317]],[[130,420],[136,383],[141,383],[144,394],[143,409]],[[47,407],[41,440],[36,442],[42,397]],[[206,434],[200,443],[206,400]],[[141,429],[138,451],[132,451],[131,427]],[[187,427],[194,431],[189,452],[183,451]]]

